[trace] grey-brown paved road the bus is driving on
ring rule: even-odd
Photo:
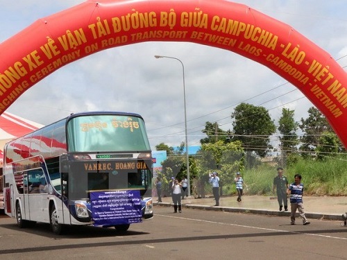
[[[18,229],[0,219],[1,259],[347,259],[347,227],[312,219],[289,225],[282,216],[155,206],[155,217],[115,229],[72,227],[56,236],[48,225]]]

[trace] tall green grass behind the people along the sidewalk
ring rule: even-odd
[[[248,195],[271,196],[273,177],[277,166],[262,166],[242,173],[248,189]],[[347,159],[334,158],[325,161],[301,159],[296,164],[285,168],[284,175],[289,183],[294,182],[294,175],[300,173],[305,186],[305,194],[310,196],[347,196]],[[235,184],[223,187],[224,194],[235,194]]]

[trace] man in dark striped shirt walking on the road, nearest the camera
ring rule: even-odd
[[[294,182],[289,185],[287,193],[290,194],[290,224],[295,225],[295,214],[296,209],[299,211],[299,215],[303,219],[303,225],[309,225],[310,221],[307,220],[305,216],[305,211],[303,207],[303,184],[301,183],[301,175],[294,175]]]

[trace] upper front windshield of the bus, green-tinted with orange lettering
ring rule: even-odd
[[[144,121],[129,115],[88,115],[67,123],[69,152],[151,150]]]

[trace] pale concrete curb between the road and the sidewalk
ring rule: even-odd
[[[164,207],[172,207],[173,203],[167,202],[153,202],[153,205],[164,206]],[[221,206],[208,206],[208,205],[194,205],[194,204],[183,204],[183,208],[187,209],[200,209],[200,210],[214,210],[214,211],[227,211],[234,213],[246,213],[246,214],[262,214],[269,216],[286,216],[290,217],[289,211],[272,211],[267,209],[246,209],[239,207],[221,207]],[[297,213],[298,214],[298,213]],[[322,213],[314,213],[314,212],[305,212],[307,218],[316,218],[316,219],[325,219],[325,220],[342,220],[342,215],[336,214],[322,214]]]

